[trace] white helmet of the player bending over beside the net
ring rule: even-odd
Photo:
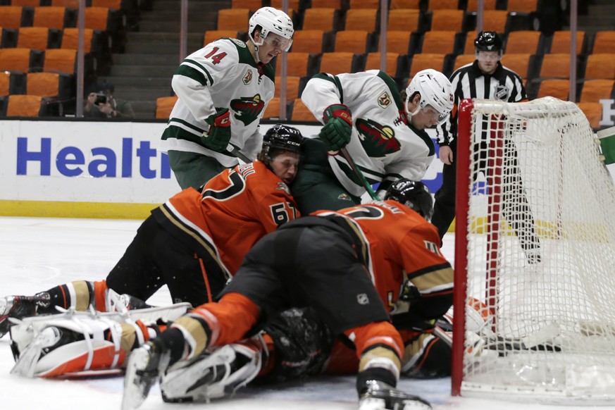
[[[421,101],[414,112],[408,111],[408,103],[414,93],[421,94]],[[406,104],[404,109],[407,116],[414,116],[418,110],[430,105],[438,112],[438,123],[447,119],[453,109],[453,87],[446,75],[440,71],[422,70],[416,73],[406,88]]]

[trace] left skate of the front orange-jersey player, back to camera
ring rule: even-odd
[[[124,378],[122,410],[134,410],[141,406],[151,386],[166,371],[169,352],[158,340],[152,340],[130,354]]]

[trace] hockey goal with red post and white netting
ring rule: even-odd
[[[453,394],[612,404],[615,189],[588,120],[552,97],[459,110]]]

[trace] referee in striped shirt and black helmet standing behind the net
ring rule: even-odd
[[[440,238],[444,237],[455,217],[455,156],[457,117],[459,103],[462,99],[495,99],[507,102],[527,101],[526,89],[521,77],[512,70],[502,66],[502,39],[494,31],[481,31],[474,40],[476,60],[457,69],[450,77],[454,90],[455,107],[449,118],[437,128],[438,144],[440,144],[440,160],[442,168],[442,187],[435,193],[435,204],[432,223],[436,226]],[[483,131],[484,132],[484,131]],[[487,161],[487,140],[483,134],[480,142],[485,149],[480,149],[478,168],[485,173]],[[521,248],[525,251],[528,261],[540,261],[540,242],[535,235],[535,224],[530,213],[521,176],[517,165],[516,149],[511,143],[506,144],[505,161],[509,161],[504,170],[504,217],[514,228],[519,237]],[[483,148],[483,147],[481,147]],[[476,178],[476,174],[475,174]],[[514,199],[510,201],[507,199]],[[511,204],[515,204],[516,214],[521,218],[511,218]],[[512,220],[511,220],[512,219]]]

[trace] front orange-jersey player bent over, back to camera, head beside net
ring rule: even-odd
[[[259,240],[218,302],[198,306],[130,354],[123,410],[142,404],[168,368],[185,366],[207,348],[242,340],[279,311],[303,306],[311,306],[333,335],[345,336],[355,347],[359,409],[430,409],[420,397],[395,389],[404,343],[389,312],[397,302],[404,305],[399,290],[410,280],[414,299],[405,303],[406,323],[439,318],[452,303],[453,272],[439,252],[435,228],[411,209],[430,217],[426,187],[399,180],[387,199],[319,211]]]

